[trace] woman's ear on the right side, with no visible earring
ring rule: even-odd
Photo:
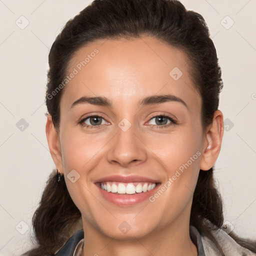
[[[213,114],[212,123],[204,135],[200,169],[208,170],[216,162],[221,147],[223,131],[223,114],[220,110],[216,110]]]

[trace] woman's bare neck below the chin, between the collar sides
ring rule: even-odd
[[[197,248],[189,236],[189,220],[161,226],[143,237],[122,240],[98,232],[88,222],[83,221],[83,229],[87,231],[84,231],[82,256],[197,256]]]

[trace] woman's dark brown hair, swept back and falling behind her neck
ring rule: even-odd
[[[203,17],[186,10],[176,0],[94,0],[67,21],[48,56],[45,100],[57,131],[63,89],[53,97],[49,95],[67,75],[68,64],[75,52],[97,39],[132,39],[142,35],[159,39],[187,54],[189,72],[202,98],[201,123],[205,131],[218,108],[219,92],[222,89],[221,69]],[[81,218],[65,181],[57,183],[55,173],[56,170],[53,170],[49,175],[32,218],[35,247],[25,255],[53,255],[76,231],[75,227]],[[209,220],[212,225],[205,220]],[[220,254],[224,255],[210,233],[210,230],[220,228],[222,223],[222,200],[214,182],[213,168],[200,170],[193,194],[190,224],[213,240]],[[237,237],[235,239],[240,245],[256,251],[252,243]]]

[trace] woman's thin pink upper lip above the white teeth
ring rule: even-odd
[[[110,175],[106,177],[102,177],[97,179],[94,183],[97,182],[105,182],[105,181],[116,181],[116,182],[123,182],[123,183],[129,183],[129,182],[151,182],[151,183],[159,183],[159,180],[151,179],[148,177],[138,176],[138,175]]]

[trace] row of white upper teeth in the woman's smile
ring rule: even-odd
[[[121,183],[121,182],[102,182],[100,187],[107,192],[118,194],[135,194],[150,191],[155,187],[155,183],[148,182],[133,182],[133,183]]]

